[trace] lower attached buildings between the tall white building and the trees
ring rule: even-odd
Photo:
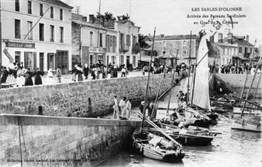
[[[81,30],[81,32],[80,32]],[[87,18],[72,13],[72,65],[88,64],[91,67],[99,60],[120,67],[138,66],[139,28],[131,21],[94,22],[94,16]],[[81,44],[81,45],[80,45]]]

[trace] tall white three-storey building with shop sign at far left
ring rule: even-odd
[[[62,1],[1,1],[1,64],[71,70],[71,10]]]

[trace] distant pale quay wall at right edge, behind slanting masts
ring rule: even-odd
[[[244,82],[246,79],[246,74],[215,74],[217,76],[217,82],[222,81],[226,85],[229,90],[234,91],[236,93],[241,94],[242,88],[244,86]],[[249,87],[251,86],[251,82],[253,79],[253,75],[249,74],[247,81],[246,81],[246,86],[244,90],[244,95],[249,91]],[[259,79],[259,74],[256,75],[256,79],[253,82],[253,86],[251,88],[251,95],[253,95],[254,91],[256,90],[256,86],[258,84],[258,79]],[[220,84],[220,83],[218,83]],[[256,96],[261,96],[262,95],[262,81],[260,82],[258,86],[258,91],[256,93]]]

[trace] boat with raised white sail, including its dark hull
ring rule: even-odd
[[[182,106],[185,117],[195,119],[195,126],[209,127],[217,124],[217,115],[211,111],[209,101],[209,67],[206,36],[202,35],[197,52],[195,74],[193,77],[191,104]],[[189,86],[188,86],[189,87]]]

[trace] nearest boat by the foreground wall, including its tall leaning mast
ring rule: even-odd
[[[155,41],[155,30],[153,35],[153,45],[152,45],[152,52],[151,52],[151,62],[153,56],[153,47]],[[151,63],[150,63],[151,64]],[[150,72],[148,71],[148,79],[146,83],[146,95],[145,95],[145,104],[148,100],[148,85],[149,85],[149,76]],[[141,128],[136,129],[133,132],[133,146],[135,149],[141,152],[143,156],[146,156],[151,159],[156,159],[160,161],[181,161],[184,158],[185,153],[182,151],[182,146],[175,141],[172,137],[168,134],[163,132],[157,125],[145,117],[146,113],[146,105],[143,106],[143,114],[140,116],[142,117],[141,121]],[[155,134],[151,134],[143,129],[143,122],[147,120],[149,124],[151,124],[155,129],[161,132],[165,137],[159,137]]]

